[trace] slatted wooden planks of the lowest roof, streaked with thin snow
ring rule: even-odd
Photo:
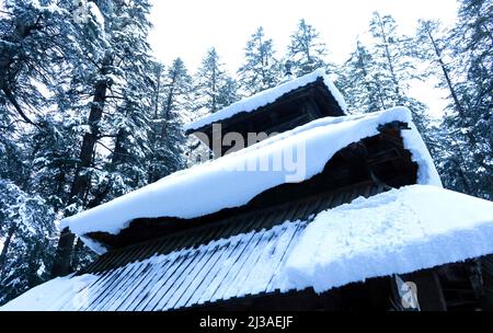
[[[279,274],[319,211],[385,191],[370,182],[261,210],[208,230],[171,234],[111,251],[78,275],[87,300],[61,310],[170,310],[246,295],[286,292]]]

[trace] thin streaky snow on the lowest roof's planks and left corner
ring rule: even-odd
[[[285,285],[279,269],[305,227],[285,222],[102,274],[56,278],[0,310],[161,311],[274,292]]]

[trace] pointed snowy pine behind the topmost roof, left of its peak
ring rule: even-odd
[[[252,95],[275,87],[282,77],[280,64],[275,58],[272,39],[266,39],[261,26],[252,34],[244,48],[244,64],[238,70],[241,90]]]

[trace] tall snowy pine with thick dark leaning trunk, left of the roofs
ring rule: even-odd
[[[151,105],[146,94],[150,4],[147,0],[89,4],[90,15],[79,24],[77,36],[83,56],[73,59],[71,81],[66,84],[70,89],[65,93],[72,101],[69,107],[87,115],[66,215],[144,185],[147,171],[140,158],[149,148],[145,126]],[[111,147],[103,142],[105,138],[113,140]],[[54,275],[73,268],[73,241],[74,236],[64,230]]]

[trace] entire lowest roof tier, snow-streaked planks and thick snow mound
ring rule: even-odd
[[[308,220],[56,278],[0,310],[167,310],[276,289],[322,292],[491,253],[493,203],[410,185]]]

